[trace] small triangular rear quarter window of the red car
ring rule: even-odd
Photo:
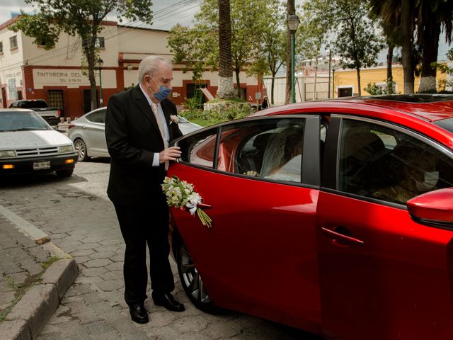
[[[213,128],[180,140],[180,161],[212,168],[216,137],[217,128]]]

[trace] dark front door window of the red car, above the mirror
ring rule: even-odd
[[[406,204],[428,191],[453,186],[453,160],[432,145],[386,126],[344,120],[340,191]]]

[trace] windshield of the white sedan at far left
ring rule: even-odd
[[[52,130],[52,128],[33,111],[0,112],[0,132],[32,130]]]

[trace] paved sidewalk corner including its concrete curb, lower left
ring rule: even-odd
[[[38,337],[78,269],[47,234],[0,205],[0,274],[1,339],[28,340]]]

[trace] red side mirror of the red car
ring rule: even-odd
[[[408,200],[407,207],[415,222],[453,229],[453,188],[423,193]]]

